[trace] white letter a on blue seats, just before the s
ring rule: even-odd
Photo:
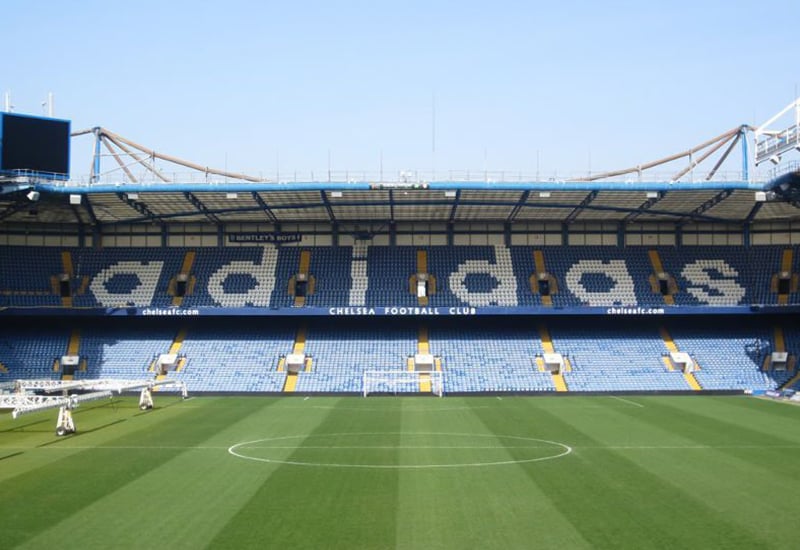
[[[590,290],[582,281],[587,273],[605,275],[614,284],[608,290]],[[624,260],[581,260],[569,268],[565,279],[569,291],[588,306],[636,305],[633,277]]]

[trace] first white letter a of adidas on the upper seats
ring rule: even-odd
[[[124,261],[111,264],[94,276],[89,290],[104,307],[145,307],[153,302],[164,262]],[[119,275],[133,275],[138,283],[127,292],[111,292],[107,283]]]

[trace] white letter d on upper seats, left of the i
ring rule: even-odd
[[[229,262],[208,278],[208,294],[222,307],[269,307],[275,289],[277,263],[278,250],[273,246],[264,247],[258,264],[252,261]],[[230,275],[249,275],[255,280],[255,286],[246,292],[226,293],[223,285]]]

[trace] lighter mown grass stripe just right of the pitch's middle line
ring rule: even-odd
[[[493,400],[493,398],[490,398]],[[447,437],[433,437],[431,444],[444,443],[444,450],[429,450],[421,460],[449,459],[452,463],[481,462],[487,453],[482,448],[492,444],[491,457],[513,461],[501,439],[510,430],[489,429],[476,415],[477,409],[491,402],[483,398],[452,398],[465,410],[432,412],[424,418],[406,414],[403,430],[418,433],[432,428],[452,430],[459,434],[475,434],[481,445],[473,449],[450,448]],[[508,400],[507,403],[512,403]],[[445,405],[445,403],[442,403]],[[494,405],[495,407],[498,405]],[[506,408],[506,402],[500,405]],[[468,441],[467,438],[464,441]],[[528,458],[532,448],[522,440],[509,439],[507,445],[520,450]],[[546,450],[546,449],[544,449]],[[509,464],[489,468],[403,471],[400,473],[396,548],[588,548],[589,544],[563,521],[560,513],[549,506],[524,471]],[[547,525],[554,526],[553,528]]]

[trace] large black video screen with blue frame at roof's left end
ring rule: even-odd
[[[69,177],[70,122],[0,113],[0,172]]]

